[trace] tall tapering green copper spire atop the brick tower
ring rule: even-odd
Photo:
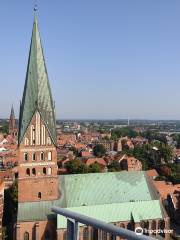
[[[52,141],[56,142],[54,104],[35,16],[29,51],[26,81],[20,106],[19,143],[36,111],[39,111]]]

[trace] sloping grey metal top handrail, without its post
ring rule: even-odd
[[[105,232],[112,233],[116,236],[121,236],[130,240],[154,240],[155,238],[145,235],[137,235],[135,232],[117,227],[113,224],[108,224],[95,218],[87,217],[85,215],[70,211],[65,208],[52,207],[52,212],[60,214],[66,218],[74,219],[77,222],[83,223],[87,226],[93,226],[94,228],[101,229]]]

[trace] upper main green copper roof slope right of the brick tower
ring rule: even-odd
[[[144,172],[64,175],[60,179],[65,207],[154,199]]]

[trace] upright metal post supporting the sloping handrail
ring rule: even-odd
[[[79,229],[78,222],[67,218],[67,240],[78,240]]]

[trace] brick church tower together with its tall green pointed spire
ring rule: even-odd
[[[54,103],[36,16],[20,105],[18,146],[18,202],[58,199]]]

